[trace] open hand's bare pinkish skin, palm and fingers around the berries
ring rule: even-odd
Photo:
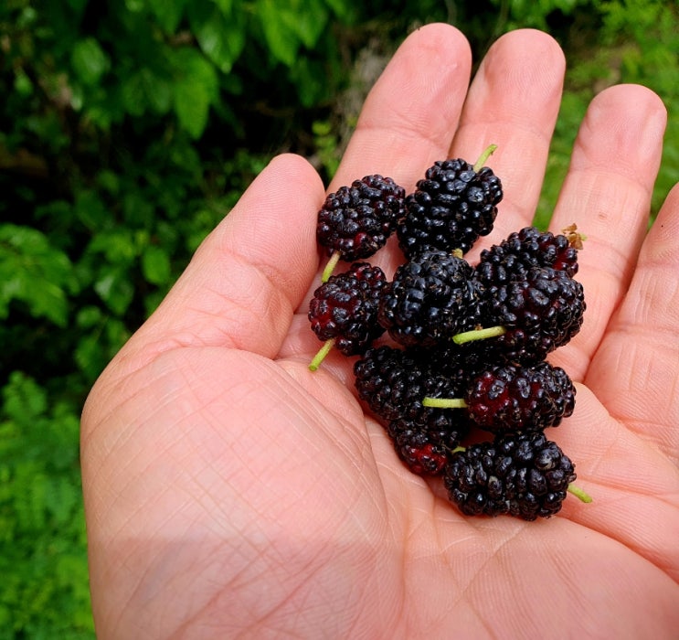
[[[333,190],[381,173],[409,191],[434,161],[503,177],[493,234],[530,224],[564,57],[498,39],[470,85],[453,27],[411,34],[366,100]],[[577,381],[549,433],[593,497],[525,523],[462,517],[410,474],[355,399],[355,358],[306,319],[325,257],[324,185],[281,155],[196,251],[91,391],[82,472],[91,592],[108,638],[669,638],[679,628],[679,186],[648,229],[666,113],[640,86],[599,93],[552,230],[586,234],[582,331],[550,359]],[[375,263],[393,272],[396,244]]]

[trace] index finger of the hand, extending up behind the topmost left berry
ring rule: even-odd
[[[406,38],[366,99],[330,191],[374,173],[411,190],[448,153],[471,68],[469,43],[450,25]]]

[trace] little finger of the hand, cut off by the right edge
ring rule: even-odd
[[[591,362],[586,383],[679,465],[679,185],[643,242],[620,309]]]

